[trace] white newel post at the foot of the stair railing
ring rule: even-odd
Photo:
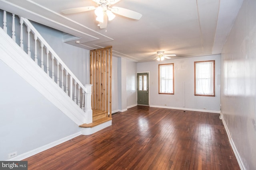
[[[84,93],[84,112],[87,117],[86,123],[92,123],[92,84],[84,85],[86,92]]]

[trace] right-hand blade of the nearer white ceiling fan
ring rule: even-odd
[[[113,6],[111,8],[111,11],[120,16],[125,16],[127,18],[132,18],[134,20],[140,20],[140,18],[142,17],[142,14],[138,12],[128,10],[126,8],[116,7],[116,6]]]

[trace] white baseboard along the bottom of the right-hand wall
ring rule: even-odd
[[[236,156],[236,160],[237,160],[237,162],[238,162],[238,164],[239,164],[239,166],[240,166],[240,169],[241,169],[241,170],[246,170],[246,168],[245,168],[245,166],[244,166],[244,164],[243,164],[242,158],[241,158],[241,156],[240,156],[238,150],[236,149],[236,145],[234,144],[234,141],[233,141],[233,139],[232,139],[232,137],[231,137],[231,135],[230,135],[230,132],[229,132],[229,130],[228,130],[228,126],[226,125],[225,119],[223,119],[222,114],[220,115],[220,119],[222,119],[222,122],[223,122],[223,124],[224,124],[226,133],[227,133],[227,135],[228,135],[228,140],[229,140],[230,145],[231,145],[231,147],[232,147],[232,149],[233,149],[233,151],[234,151],[234,154],[235,154],[235,156]]]

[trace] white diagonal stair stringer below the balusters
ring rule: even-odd
[[[0,29],[0,59],[46,97],[77,125],[92,122],[84,112],[28,55]],[[22,89],[21,89],[22,90]]]

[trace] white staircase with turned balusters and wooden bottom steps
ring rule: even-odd
[[[112,119],[99,121],[102,119],[99,114],[93,117],[92,85],[83,85],[78,80],[29,20],[6,11],[0,12],[3,14],[0,59],[80,125],[83,135],[110,126]],[[101,123],[83,126],[95,120]]]

